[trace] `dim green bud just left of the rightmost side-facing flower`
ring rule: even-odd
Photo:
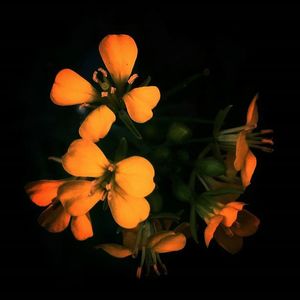
[[[226,166],[223,162],[208,157],[196,161],[196,171],[200,175],[220,176],[225,174]]]

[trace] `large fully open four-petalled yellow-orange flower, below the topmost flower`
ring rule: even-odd
[[[70,145],[62,164],[73,176],[94,178],[59,188],[58,198],[72,216],[82,216],[107,199],[114,220],[124,228],[133,228],[148,217],[150,207],[144,197],[155,184],[154,169],[145,158],[131,156],[113,164],[94,143],[79,139]]]

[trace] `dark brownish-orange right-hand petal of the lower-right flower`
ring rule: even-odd
[[[250,236],[253,235],[259,226],[260,220],[250,213],[248,210],[244,209],[239,212],[237,217],[237,223],[234,223],[231,230],[239,236]]]

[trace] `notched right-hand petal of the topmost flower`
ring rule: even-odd
[[[137,123],[144,123],[152,118],[152,109],[159,99],[160,91],[156,86],[138,87],[123,96],[130,118]]]

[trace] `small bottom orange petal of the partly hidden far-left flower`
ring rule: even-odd
[[[71,220],[71,231],[74,237],[83,241],[93,236],[93,227],[89,214],[72,217]]]

